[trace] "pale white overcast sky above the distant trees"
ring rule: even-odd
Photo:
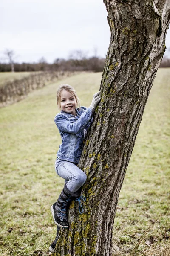
[[[105,57],[110,42],[102,0],[0,0],[0,59],[13,49],[18,62],[68,58],[74,50]],[[166,47],[170,49],[170,29]]]

